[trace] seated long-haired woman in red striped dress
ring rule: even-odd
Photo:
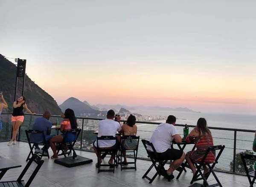
[[[186,160],[191,167],[193,175],[195,175],[196,169],[194,163],[199,163],[204,158],[208,147],[213,146],[212,133],[207,127],[206,119],[199,118],[196,127],[186,137],[186,142],[193,142],[197,150],[192,150],[186,153]],[[205,162],[213,163],[215,160],[215,153],[209,152]],[[204,175],[207,176],[209,169],[206,165],[203,165]]]

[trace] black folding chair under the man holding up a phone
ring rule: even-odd
[[[104,141],[109,141],[109,140],[117,140],[116,137],[114,136],[100,136],[100,137],[97,137],[96,139],[96,142],[97,142],[97,151],[98,151],[98,157],[97,157],[97,161],[98,161],[98,173],[99,172],[113,172],[115,173],[115,164],[116,164],[116,167],[117,167],[117,151],[118,149],[113,149],[113,148],[101,148],[101,147],[98,147],[99,145],[99,140],[104,140]],[[104,169],[104,170],[101,170],[100,167],[101,166],[108,166],[110,167],[111,165],[110,164],[101,164],[100,163],[100,160],[101,160],[101,156],[102,154],[104,153],[110,153],[111,156],[113,156],[113,169]],[[105,158],[110,158],[111,156],[105,156]]]

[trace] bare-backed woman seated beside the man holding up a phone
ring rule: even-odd
[[[126,121],[126,124],[122,125],[122,134],[123,135],[136,135],[137,134],[137,125],[135,125],[136,117],[130,115]],[[134,150],[137,148],[137,139],[125,139],[122,140],[121,146],[125,150]],[[124,161],[123,165],[127,165],[126,151],[123,151]]]

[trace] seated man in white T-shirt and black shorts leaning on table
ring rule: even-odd
[[[171,148],[173,140],[177,143],[182,141],[181,136],[175,128],[175,122],[175,116],[168,116],[166,123],[161,123],[157,126],[149,141],[154,145],[154,148],[161,160],[173,160],[169,169],[165,171],[165,177],[169,179],[174,178],[172,172],[176,170],[185,159],[185,153],[182,150]],[[147,148],[149,151],[153,151],[150,146]]]

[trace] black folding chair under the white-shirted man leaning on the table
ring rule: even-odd
[[[159,158],[157,151],[155,150],[154,145],[152,143],[150,143],[149,141],[147,141],[145,139],[142,139],[141,142],[143,143],[145,150],[147,151],[148,158],[150,158],[150,160],[152,161],[151,166],[148,168],[148,170],[146,171],[146,173],[143,175],[142,178],[148,179],[149,184],[151,184],[154,181],[154,179],[157,177],[157,175],[160,176],[162,173],[161,171],[165,170],[164,165],[166,164],[166,162],[168,160],[161,160]],[[150,146],[152,148],[153,152],[149,151],[147,149],[147,146]],[[158,162],[158,164],[157,164],[157,162]],[[157,173],[155,173],[152,178],[149,178],[147,175],[153,167],[157,170]],[[170,180],[168,179],[168,181],[170,181]]]

